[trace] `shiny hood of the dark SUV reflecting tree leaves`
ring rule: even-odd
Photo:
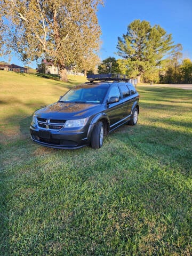
[[[46,119],[81,119],[99,111],[100,104],[56,102],[39,109],[35,114]]]

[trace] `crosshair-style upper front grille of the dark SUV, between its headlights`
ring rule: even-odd
[[[65,123],[66,120],[37,117],[37,126],[46,130],[61,130],[65,126]]]

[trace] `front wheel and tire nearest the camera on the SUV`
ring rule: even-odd
[[[104,127],[102,122],[95,124],[91,136],[91,147],[101,148],[103,144]]]

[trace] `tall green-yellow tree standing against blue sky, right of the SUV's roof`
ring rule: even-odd
[[[151,27],[148,21],[134,20],[126,35],[118,37],[117,54],[129,61],[140,82],[140,75],[161,65],[163,57],[172,49],[171,34],[159,25]]]

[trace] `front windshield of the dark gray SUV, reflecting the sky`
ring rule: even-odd
[[[59,101],[79,103],[101,103],[107,88],[101,86],[77,86],[68,91]]]

